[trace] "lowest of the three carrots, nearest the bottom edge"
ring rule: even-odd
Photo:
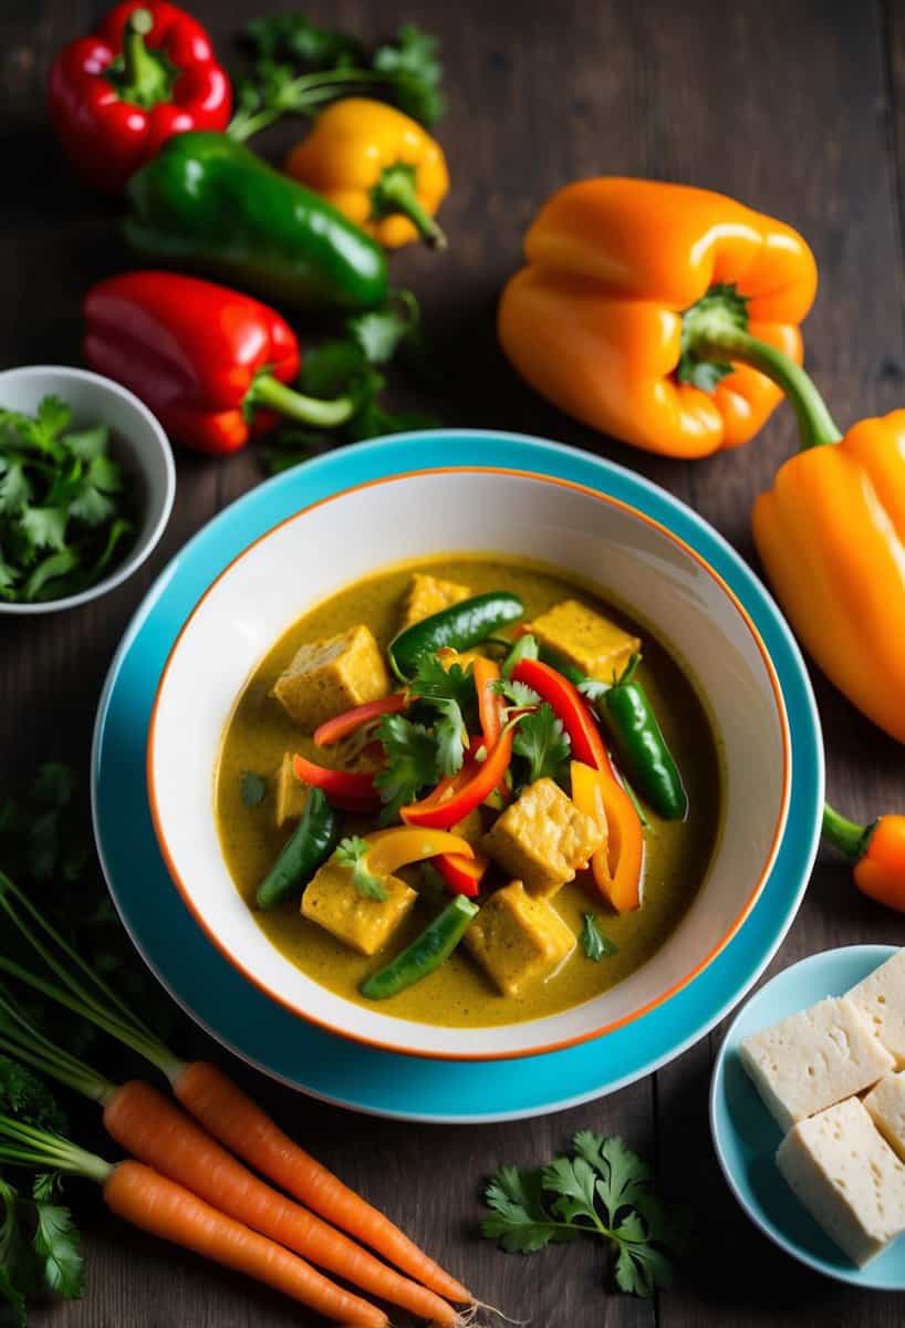
[[[376,1305],[333,1286],[304,1259],[218,1212],[143,1162],[115,1166],[104,1182],[104,1199],[134,1227],[248,1274],[326,1319],[356,1328],[387,1328],[386,1315]]]

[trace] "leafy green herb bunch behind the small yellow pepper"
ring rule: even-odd
[[[256,19],[245,33],[255,68],[251,77],[235,80],[238,109],[228,129],[240,141],[285,114],[314,114],[328,101],[354,94],[387,101],[429,127],[443,114],[438,42],[414,23],[373,49],[301,13]]]

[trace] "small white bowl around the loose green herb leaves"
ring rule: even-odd
[[[0,600],[0,614],[56,614],[86,604],[121,586],[154,550],[166,530],[176,491],[176,470],[166,433],[147,406],[127,388],[88,369],[64,364],[35,364],[0,373],[0,409],[33,414],[42,397],[61,397],[73,410],[77,428],[105,424],[110,446],[135,493],[138,529],[122,562],[77,595],[40,604]]]

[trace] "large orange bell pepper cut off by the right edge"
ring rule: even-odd
[[[905,410],[823,441],[758,498],[754,539],[820,668],[905,742]]]

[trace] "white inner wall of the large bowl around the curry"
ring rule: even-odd
[[[439,1028],[365,1009],[295,968],[240,899],[220,851],[212,774],[235,699],[301,614],[356,578],[450,551],[520,554],[596,583],[690,669],[714,717],[726,814],[706,880],[644,967],[583,1005],[503,1028]],[[636,608],[633,608],[636,607]],[[788,736],[772,667],[723,583],[660,526],[540,477],[423,473],[352,490],[251,546],[195,610],[165,673],[150,736],[158,834],[199,920],[297,1012],[417,1054],[528,1054],[622,1023],[682,985],[729,939],[766,879],[786,817]]]

